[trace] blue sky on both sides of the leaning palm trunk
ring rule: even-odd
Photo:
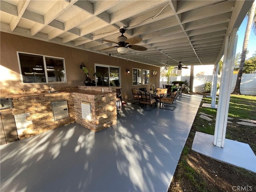
[[[240,25],[237,34],[238,34],[238,42],[236,46],[236,53],[242,53],[242,48],[243,48],[243,42],[244,42],[244,32],[246,29],[246,24],[247,24],[247,17],[244,18],[244,21]],[[249,38],[249,43],[248,43],[248,48],[247,50],[249,53],[247,54],[246,58],[250,58],[252,54],[256,51],[256,35],[254,34],[254,31],[251,30],[250,33],[250,38]]]

